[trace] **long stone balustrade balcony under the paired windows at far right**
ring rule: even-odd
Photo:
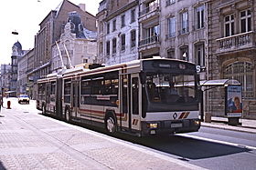
[[[217,39],[217,53],[229,53],[255,47],[253,31]]]

